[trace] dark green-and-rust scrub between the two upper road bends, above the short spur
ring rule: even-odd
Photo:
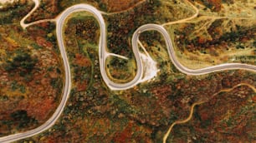
[[[133,58],[130,39],[136,28],[146,23],[160,23],[163,19],[169,18],[156,12],[159,7],[162,7],[159,0],[146,1],[135,7],[133,11],[107,17],[109,32],[107,47],[110,52]]]

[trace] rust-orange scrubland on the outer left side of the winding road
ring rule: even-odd
[[[0,137],[41,125],[62,96],[62,62],[54,34],[51,36],[55,24],[44,22],[23,30],[20,20],[34,4],[15,2],[0,9]],[[29,22],[36,14],[31,17]],[[49,67],[54,69],[48,71]]]

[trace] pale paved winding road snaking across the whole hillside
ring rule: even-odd
[[[44,22],[43,21],[38,21],[38,22],[33,22],[29,24],[25,24],[24,21],[25,19],[33,13],[37,7],[39,6],[39,1],[38,0],[33,0],[35,2],[35,7],[31,12],[28,13],[27,16],[23,17],[23,20],[21,21],[21,26],[23,28],[28,27],[30,25],[33,25],[38,22]],[[223,70],[230,70],[230,69],[243,69],[243,70],[248,70],[252,72],[256,72],[256,67],[252,65],[247,65],[247,64],[241,64],[241,63],[226,63],[226,64],[221,64],[213,67],[206,67],[202,69],[197,69],[197,70],[192,70],[187,67],[182,66],[180,62],[178,62],[177,57],[175,55],[174,48],[172,46],[172,40],[169,35],[169,33],[166,31],[164,28],[164,25],[156,25],[156,24],[146,24],[141,27],[139,27],[136,32],[134,32],[133,37],[132,37],[132,50],[134,53],[134,56],[136,58],[136,66],[137,66],[137,72],[136,76],[132,81],[129,81],[127,83],[115,83],[114,81],[111,81],[109,76],[107,76],[105,72],[105,61],[106,58],[109,56],[115,56],[113,53],[107,52],[106,48],[106,27],[105,27],[105,21],[104,18],[102,17],[102,12],[97,10],[95,7],[92,7],[87,4],[77,4],[72,7],[68,7],[67,9],[62,12],[59,17],[56,17],[56,19],[51,19],[49,21],[51,22],[56,22],[56,32],[57,32],[57,40],[59,44],[59,50],[61,53],[61,57],[63,58],[63,63],[64,63],[64,91],[63,91],[63,96],[60,101],[60,104],[56,111],[54,112],[53,116],[49,118],[48,121],[46,121],[42,126],[38,126],[37,128],[30,130],[30,131],[25,131],[21,132],[18,134],[13,134],[10,136],[3,136],[0,137],[0,142],[12,142],[12,141],[18,141],[24,138],[28,138],[30,136],[37,135],[38,133],[41,133],[43,131],[48,130],[51,126],[54,125],[54,123],[59,119],[59,116],[61,113],[64,111],[64,106],[66,102],[69,99],[69,92],[71,89],[71,72],[70,72],[70,67],[69,67],[69,60],[67,57],[67,53],[65,51],[64,47],[64,38],[63,38],[63,28],[64,28],[64,22],[69,17],[70,14],[74,12],[80,12],[80,11],[85,11],[85,12],[90,12],[91,14],[94,15],[94,17],[97,19],[97,21],[100,24],[100,42],[99,42],[99,59],[100,59],[100,73],[105,81],[105,84],[110,88],[110,90],[126,90],[129,89],[133,86],[136,86],[138,83],[141,82],[141,78],[143,76],[143,63],[141,61],[141,55],[139,52],[139,47],[138,47],[138,42],[139,42],[139,37],[142,32],[146,31],[157,31],[160,32],[161,35],[164,37],[166,41],[166,47],[168,50],[168,54],[172,60],[172,63],[177,67],[177,69],[185,73],[187,75],[203,75],[207,74],[210,72],[218,72],[218,71],[223,71]],[[117,56],[117,57],[122,57],[122,56]],[[125,57],[122,57],[125,58]]]

